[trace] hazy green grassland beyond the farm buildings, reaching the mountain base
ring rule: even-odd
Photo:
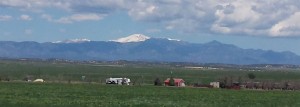
[[[86,76],[86,81],[97,83],[104,83],[105,79],[109,77],[128,77],[137,84],[153,84],[157,77],[161,80],[171,77],[171,71],[173,77],[183,78],[187,84],[209,83],[224,77],[233,77],[234,80],[241,77],[243,80],[247,80],[248,73],[254,73],[256,81],[300,81],[299,70],[193,70],[177,67],[103,66],[29,61],[0,61],[0,68],[0,78],[2,79],[22,80],[26,76],[32,76],[33,78],[43,78],[48,82],[66,82],[69,80],[76,82],[82,81],[81,76]]]

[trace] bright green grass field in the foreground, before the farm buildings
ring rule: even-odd
[[[3,107],[299,107],[300,91],[0,83]]]

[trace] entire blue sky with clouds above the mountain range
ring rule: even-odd
[[[300,55],[298,0],[0,0],[0,41],[131,34]]]

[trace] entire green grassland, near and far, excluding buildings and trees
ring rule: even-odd
[[[1,107],[300,107],[300,91],[228,90],[191,87],[224,77],[234,81],[300,81],[298,69],[186,69],[39,61],[0,61]],[[171,74],[171,71],[173,72]],[[26,76],[46,83],[25,82]],[[86,80],[82,80],[86,76]],[[189,87],[153,86],[155,78],[183,78]],[[128,77],[130,86],[105,85],[109,77]],[[9,78],[10,81],[6,81]]]

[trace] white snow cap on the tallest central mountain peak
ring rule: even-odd
[[[112,40],[114,42],[120,42],[120,43],[128,43],[128,42],[142,42],[150,39],[150,37],[145,36],[143,34],[133,34],[124,38],[119,38],[117,40]]]

